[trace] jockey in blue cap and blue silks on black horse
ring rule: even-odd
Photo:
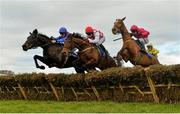
[[[66,41],[66,39],[71,33],[69,33],[65,27],[60,27],[59,34],[60,36],[56,37],[55,40],[52,41],[53,43],[64,44],[64,42]],[[78,52],[78,49],[74,48],[71,50],[70,55],[77,57],[77,52]]]

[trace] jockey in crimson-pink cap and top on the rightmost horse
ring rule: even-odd
[[[150,34],[144,28],[139,28],[136,25],[132,25],[130,28],[131,36],[137,38],[137,43],[140,45],[142,50],[145,50],[145,44],[149,42],[148,35]]]

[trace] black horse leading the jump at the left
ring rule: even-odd
[[[45,69],[44,66],[40,66],[38,64],[37,60],[40,60],[49,68],[75,67],[77,73],[84,73],[83,69],[80,69],[73,64],[73,61],[76,61],[78,59],[77,57],[70,56],[66,64],[63,64],[64,61],[62,61],[61,59],[61,51],[63,49],[63,44],[51,43],[51,41],[52,39],[50,39],[46,35],[38,33],[37,29],[35,29],[32,33],[30,33],[30,36],[27,37],[27,41],[22,45],[22,48],[24,51],[37,47],[41,47],[43,49],[43,56],[34,56],[34,61],[37,68]]]

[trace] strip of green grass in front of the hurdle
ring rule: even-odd
[[[0,112],[180,112],[180,104],[1,100]]]

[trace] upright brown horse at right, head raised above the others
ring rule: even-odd
[[[120,54],[125,62],[129,60],[133,65],[147,67],[149,65],[159,64],[156,57],[149,58],[146,53],[141,52],[140,47],[131,38],[130,33],[124,25],[123,21],[125,18],[116,19],[112,28],[112,33],[115,35],[121,34],[123,39],[123,47],[118,52],[118,55]]]

